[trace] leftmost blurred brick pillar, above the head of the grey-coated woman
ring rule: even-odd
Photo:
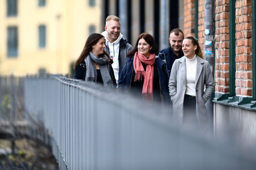
[[[184,37],[195,36],[194,31],[194,0],[184,0]]]

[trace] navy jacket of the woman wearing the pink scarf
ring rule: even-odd
[[[122,70],[121,76],[118,81],[119,89],[129,89],[130,87],[132,70],[134,69],[133,59],[134,57],[127,57],[126,64]],[[163,62],[163,60],[161,60],[157,56],[156,56],[155,63],[159,71],[159,79],[160,79],[159,85],[161,89],[161,94],[163,96],[164,102],[170,103],[171,100],[169,97],[169,90],[168,90],[169,76],[166,71],[166,64]]]

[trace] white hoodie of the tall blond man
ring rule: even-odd
[[[123,37],[123,35],[120,33],[119,37],[117,40],[113,43],[110,43],[109,40],[107,39],[107,31],[104,31],[101,33],[105,37],[105,44],[106,47],[108,48],[109,51],[109,56],[113,60],[112,68],[114,70],[115,74],[115,79],[118,84],[118,73],[119,73],[119,62],[118,62],[118,55],[119,55],[119,45],[120,45],[120,40]],[[122,71],[122,70],[120,70]]]

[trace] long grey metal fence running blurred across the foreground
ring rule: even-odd
[[[25,108],[51,135],[60,169],[255,169],[255,152],[177,128],[163,106],[49,75],[24,81]]]

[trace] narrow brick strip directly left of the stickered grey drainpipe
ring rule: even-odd
[[[204,55],[204,0],[198,1],[198,42]]]

